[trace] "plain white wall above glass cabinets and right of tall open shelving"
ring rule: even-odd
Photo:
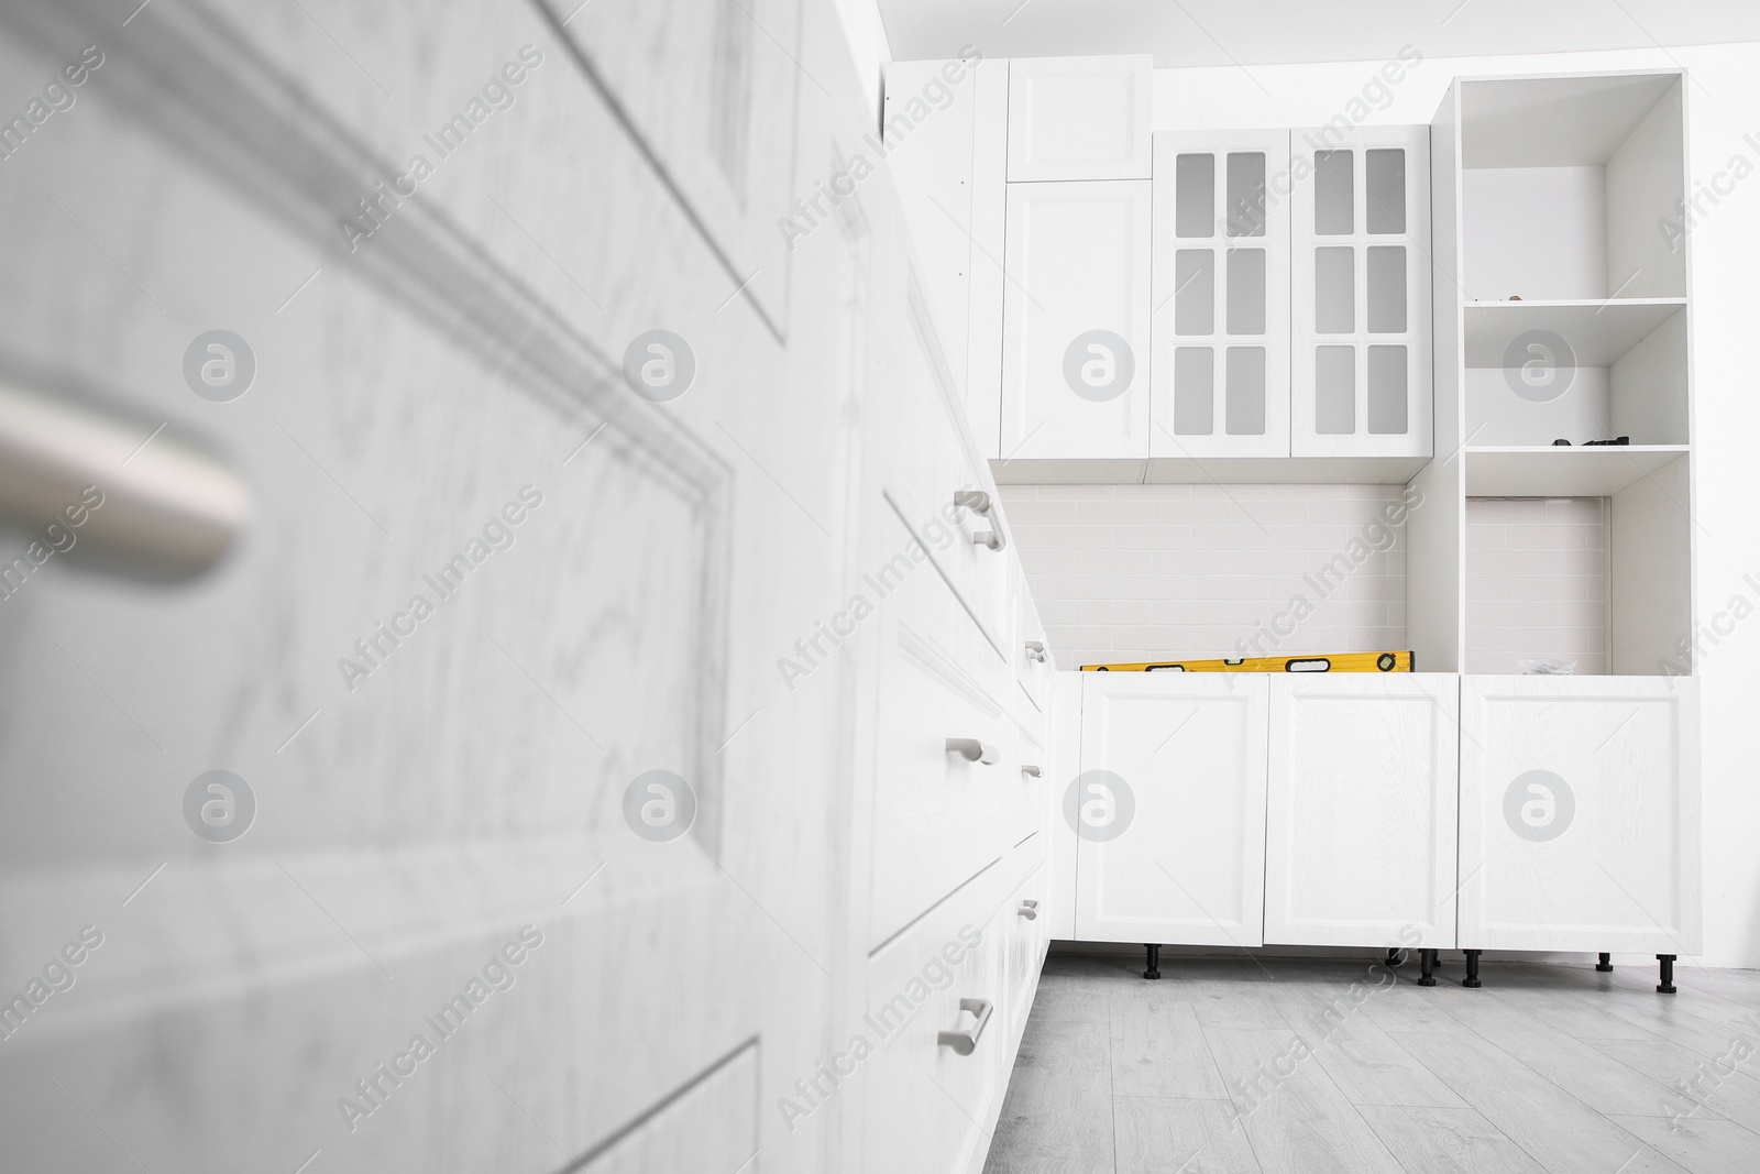
[[[1419,46],[1422,51],[1422,46]],[[1327,121],[1368,95],[1366,123],[1427,123],[1448,81],[1471,74],[1668,69],[1684,65],[1693,190],[1746,158],[1755,171],[1727,194],[1707,197],[1691,236],[1693,378],[1697,393],[1698,616],[1716,623],[1700,658],[1704,697],[1705,954],[1707,965],[1760,966],[1760,621],[1734,620],[1742,595],[1749,616],[1760,590],[1760,396],[1753,394],[1753,324],[1760,319],[1760,44],[1623,53],[1436,58],[1385,90],[1371,63],[1156,70],[1156,127],[1302,127]],[[1744,136],[1755,136],[1753,141]],[[1723,616],[1723,620],[1718,620]],[[1727,632],[1727,635],[1723,634]],[[1690,980],[1690,977],[1688,977]]]

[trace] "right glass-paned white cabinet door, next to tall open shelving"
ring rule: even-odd
[[[1290,132],[1295,456],[1433,456],[1429,127]]]

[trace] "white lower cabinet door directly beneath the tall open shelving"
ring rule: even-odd
[[[1698,954],[1698,681],[1461,679],[1461,947]]]

